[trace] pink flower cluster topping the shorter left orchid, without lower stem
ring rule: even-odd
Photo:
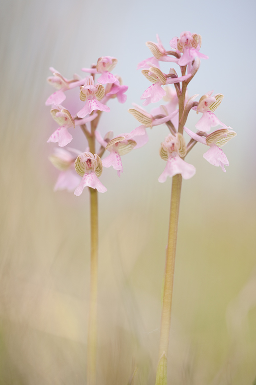
[[[60,170],[55,190],[75,190],[74,194],[79,196],[84,187],[88,186],[96,188],[99,192],[105,192],[106,187],[99,180],[103,167],[112,166],[120,176],[123,172],[121,156],[147,141],[146,131],[143,128],[137,128],[130,133],[121,133],[115,138],[113,138],[112,131],[106,133],[102,138],[97,130],[102,111],[110,112],[106,103],[113,98],[117,98],[120,103],[126,101],[125,92],[128,87],[122,85],[120,76],[111,73],[116,64],[115,57],[100,57],[96,66],[82,68],[82,71],[89,73],[88,76],[81,78],[75,74],[71,80],[64,78],[54,68],[50,68],[53,76],[48,78],[48,82],[57,88],[57,91],[50,95],[46,105],[51,106],[52,118],[59,125],[48,139],[48,142],[59,145],[49,158],[52,164]],[[100,74],[97,82],[95,82],[96,74]],[[74,116],[61,105],[66,100],[65,93],[72,88],[79,88],[77,101],[80,99],[85,103],[82,109],[78,110],[77,107],[78,112]],[[80,126],[86,135],[88,143],[84,146],[85,152],[73,148],[67,150],[60,148],[67,146],[72,141],[73,136],[70,130],[76,126]],[[95,140],[99,147],[97,153],[94,153],[97,145]],[[101,160],[105,150],[108,150],[110,155]]]

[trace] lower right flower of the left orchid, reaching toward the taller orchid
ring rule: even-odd
[[[135,128],[130,133],[122,133],[115,138],[112,138],[112,131],[108,132],[108,142],[102,139],[100,133],[95,131],[95,137],[102,147],[110,151],[110,155],[102,160],[104,167],[113,167],[117,170],[117,175],[120,177],[123,172],[121,155],[125,155],[132,151],[133,148],[142,147],[147,143],[148,137],[144,126]],[[111,139],[111,140],[109,140]]]

